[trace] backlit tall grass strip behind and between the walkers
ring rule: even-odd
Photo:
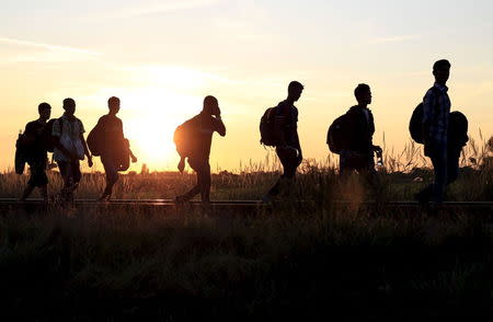
[[[463,149],[460,165],[461,175],[449,192],[451,199],[491,200],[492,183],[492,139],[481,145],[471,139]],[[329,156],[323,161],[305,160],[298,169],[297,185],[291,194],[305,199],[411,199],[424,185],[432,181],[432,171],[422,147],[410,141],[402,151],[386,149],[385,166],[379,168],[380,186],[371,191],[360,177],[353,177],[341,185],[337,177],[337,158]],[[280,164],[273,151],[267,152],[263,162],[242,163],[237,171],[221,171],[214,174],[211,197],[216,199],[259,199],[275,183],[280,174]],[[50,191],[61,187],[56,171],[48,173]],[[0,175],[0,197],[19,197],[27,181],[27,175],[5,172]],[[176,172],[130,172],[123,174],[115,186],[115,198],[172,198],[184,193],[195,183],[193,173]],[[78,197],[96,198],[105,185],[104,174],[85,173],[78,191]]]

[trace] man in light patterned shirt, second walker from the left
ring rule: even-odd
[[[58,163],[64,188],[61,197],[64,202],[73,200],[73,192],[81,180],[80,160],[88,157],[88,164],[92,166],[92,157],[84,139],[84,127],[82,122],[73,114],[76,113],[76,101],[64,100],[64,115],[53,124],[53,137],[55,140],[54,159]]]

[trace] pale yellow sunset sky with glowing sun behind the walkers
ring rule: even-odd
[[[330,156],[326,129],[371,87],[374,142],[402,150],[413,108],[433,85],[432,65],[451,62],[452,110],[470,135],[493,135],[493,2],[331,0],[0,0],[0,171],[15,138],[48,102],[73,97],[87,131],[122,100],[119,117],[139,162],[174,170],[177,125],[206,95],[219,100],[227,136],[215,136],[214,171],[264,162],[259,122],[305,84],[303,156]],[[333,158],[334,156],[332,156]],[[102,169],[101,164],[98,165]]]

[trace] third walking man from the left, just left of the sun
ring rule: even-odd
[[[110,113],[102,116],[98,120],[96,129],[99,130],[101,139],[101,162],[106,173],[106,187],[100,200],[110,200],[113,192],[113,186],[118,181],[118,170],[123,158],[128,154],[133,162],[137,162],[137,158],[128,148],[128,141],[125,139],[123,123],[116,114],[119,112],[119,99],[112,96],[107,101]]]

